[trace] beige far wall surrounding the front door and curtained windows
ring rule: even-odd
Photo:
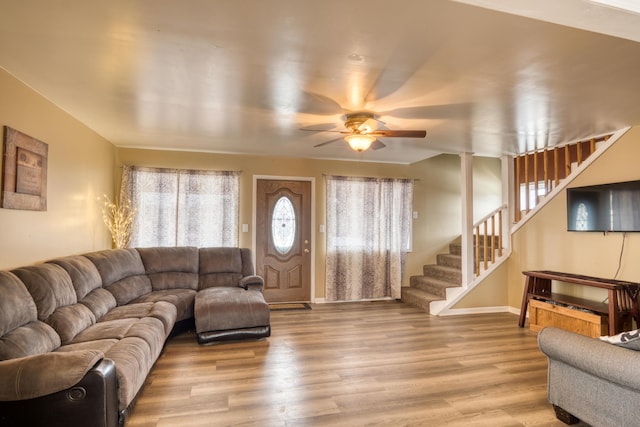
[[[441,155],[413,165],[386,163],[346,162],[283,157],[259,157],[214,153],[192,153],[158,150],[119,148],[117,150],[116,175],[120,166],[139,165],[185,169],[212,169],[242,171],[240,178],[240,224],[250,224],[249,233],[240,233],[240,245],[251,247],[253,241],[253,183],[254,176],[278,176],[315,179],[315,298],[324,298],[325,235],[318,226],[325,223],[324,175],[355,175],[416,179],[414,188],[413,252],[407,260],[407,274],[420,274],[422,266],[432,263],[438,252],[460,234],[460,158]],[[475,164],[475,162],[474,162]],[[499,161],[478,159],[479,176],[499,175]],[[496,172],[497,170],[497,172]],[[487,172],[490,171],[490,172]],[[483,178],[491,182],[491,178]],[[488,187],[499,188],[493,182]],[[486,191],[486,190],[485,190]],[[482,192],[480,192],[482,193]],[[483,198],[486,195],[482,195]],[[495,206],[494,206],[495,208]]]

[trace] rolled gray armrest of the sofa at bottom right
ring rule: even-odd
[[[599,378],[640,389],[640,351],[618,347],[558,328],[544,328],[538,346],[549,358]]]

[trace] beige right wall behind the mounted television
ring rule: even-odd
[[[640,128],[627,132],[582,172],[569,187],[640,180]],[[509,305],[520,308],[524,270],[556,270],[603,278],[640,282],[640,233],[627,233],[620,258],[623,233],[567,231],[566,191],[561,192],[513,235],[508,261]],[[578,289],[578,288],[576,288]],[[568,289],[567,289],[568,291]],[[601,299],[601,292],[575,291],[576,296]]]

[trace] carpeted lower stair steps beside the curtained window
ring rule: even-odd
[[[411,276],[409,286],[402,287],[402,301],[429,313],[432,301],[447,299],[448,288],[462,286],[461,250],[459,241],[451,243],[449,253],[438,254],[436,264],[422,268],[422,276]]]

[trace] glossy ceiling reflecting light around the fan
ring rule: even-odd
[[[412,163],[640,124],[640,15],[586,0],[2,0],[0,67],[123,147]],[[300,130],[348,110],[427,137]]]

